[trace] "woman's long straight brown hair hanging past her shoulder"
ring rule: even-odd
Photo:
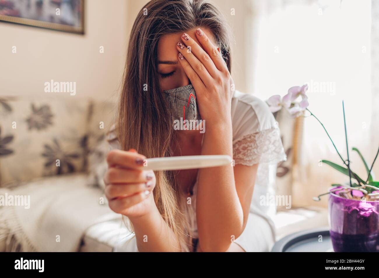
[[[230,31],[218,9],[203,0],[152,0],[139,11],[130,34],[124,80],[116,120],[122,149],[136,149],[149,157],[171,156],[174,140],[168,103],[161,96],[158,79],[158,41],[166,34],[207,28],[230,71]],[[155,172],[153,196],[163,219],[180,240],[184,217],[180,191],[172,172]],[[128,227],[133,231],[132,224]]]

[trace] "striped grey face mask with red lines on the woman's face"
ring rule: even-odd
[[[185,129],[193,129],[192,123],[201,120],[199,109],[196,105],[196,94],[192,85],[163,90],[163,95],[171,104],[172,116],[174,120],[183,123]],[[189,126],[188,126],[189,124]]]

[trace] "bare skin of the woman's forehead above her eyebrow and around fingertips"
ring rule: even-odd
[[[213,36],[213,34],[208,29],[202,29],[202,30],[208,36],[208,38],[213,43],[213,45],[218,47],[216,45],[215,36]],[[196,29],[186,31],[185,33],[187,33],[192,39],[195,40],[195,42],[197,42],[200,45],[200,47],[202,47],[200,42],[196,38]],[[172,33],[172,34],[164,35],[159,39],[159,42],[158,42],[158,60],[159,61],[176,61],[177,60],[176,56],[179,53],[179,51],[176,48],[176,44],[178,42],[183,42],[181,39],[182,35],[183,33]]]

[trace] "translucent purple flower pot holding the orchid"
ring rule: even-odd
[[[328,221],[334,252],[378,252],[378,212],[379,201],[349,200],[330,193]]]

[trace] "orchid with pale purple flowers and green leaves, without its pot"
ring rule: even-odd
[[[345,121],[345,109],[343,108],[344,122],[345,122],[346,149],[347,149],[347,154],[348,154],[347,160],[343,159],[340,152],[338,152],[337,147],[335,146],[332,138],[330,137],[323,123],[321,123],[321,121],[308,109],[309,102],[308,102],[308,97],[306,95],[307,90],[308,90],[308,85],[294,86],[288,89],[287,95],[283,97],[281,97],[280,95],[271,96],[266,101],[266,103],[270,107],[271,112],[275,113],[284,108],[288,111],[288,113],[290,113],[290,115],[293,118],[297,118],[299,116],[305,116],[306,112],[309,112],[310,116],[313,116],[325,130],[327,136],[329,137],[330,141],[332,142],[334,146],[334,149],[337,151],[337,154],[341,158],[344,166],[338,165],[337,163],[331,162],[329,160],[321,160],[321,161],[333,167],[337,171],[349,176],[349,179],[350,179],[350,186],[341,185],[341,184],[332,184],[332,186],[342,186],[342,187],[345,187],[346,189],[349,189],[351,192],[345,197],[354,198],[354,197],[360,196],[360,197],[365,197],[365,199],[370,199],[370,200],[379,199],[379,181],[374,181],[374,174],[372,173],[374,163],[379,154],[379,148],[376,152],[376,156],[370,168],[368,167],[366,160],[363,158],[363,155],[361,154],[361,152],[357,148],[352,148],[353,151],[356,151],[358,153],[367,171],[367,175],[368,175],[367,179],[365,180],[361,179],[355,172],[351,171],[350,169],[349,149],[348,149],[348,140],[347,140],[347,132],[346,132],[346,121]],[[355,182],[352,182],[351,179],[355,180]],[[359,194],[357,194],[357,191],[359,192]],[[314,199],[320,200],[319,199],[320,196],[326,195],[329,193],[330,192],[321,194]]]

